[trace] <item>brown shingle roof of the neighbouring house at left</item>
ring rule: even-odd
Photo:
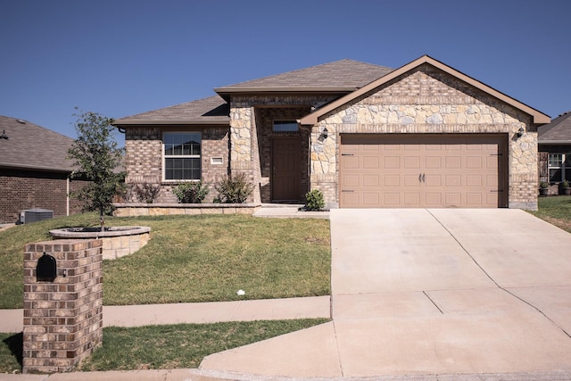
[[[37,126],[27,120],[0,115],[0,167],[55,170],[70,172],[72,162],[66,159],[73,144],[71,137]]]

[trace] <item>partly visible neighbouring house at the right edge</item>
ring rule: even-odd
[[[551,185],[571,181],[571,112],[538,128],[538,143],[540,180]]]

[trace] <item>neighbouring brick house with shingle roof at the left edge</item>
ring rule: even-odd
[[[72,138],[7,116],[0,116],[0,132],[0,223],[17,222],[29,209],[54,211],[54,217],[81,210],[68,195],[85,185],[70,180]]]

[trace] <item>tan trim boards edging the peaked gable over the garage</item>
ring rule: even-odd
[[[387,83],[393,79],[396,79],[399,76],[401,76],[402,74],[405,74],[405,73],[409,72],[410,70],[414,70],[414,69],[418,68],[418,66],[425,64],[425,63],[430,64],[439,70],[443,70],[444,72],[450,74],[451,76],[468,83],[468,85],[476,87],[476,88],[480,89],[481,91],[484,91],[484,93],[491,95],[491,96],[501,100],[502,102],[517,108],[521,112],[525,112],[525,113],[531,115],[533,117],[533,121],[535,124],[545,124],[545,123],[550,122],[550,117],[543,114],[542,112],[538,112],[537,110],[527,106],[526,104],[522,104],[522,103],[518,102],[517,100],[509,97],[508,95],[505,95],[505,94],[501,93],[500,91],[498,91],[492,87],[484,85],[484,83],[482,83],[476,79],[473,79],[473,78],[469,77],[468,75],[451,68],[450,66],[445,65],[443,62],[436,61],[436,60],[434,60],[434,58],[429,57],[428,55],[423,55],[422,57],[418,58],[417,60],[412,61],[410,63],[407,63],[406,65],[402,66],[401,68],[399,68],[397,70],[393,70],[393,71],[389,72],[388,74],[386,74],[385,76],[370,82],[368,85],[366,85],[364,87],[360,87],[358,90],[355,90],[351,94],[345,95],[342,98],[336,100],[335,102],[332,102],[330,104],[326,104],[325,106],[319,108],[319,110],[312,112],[309,115],[303,117],[301,120],[299,120],[299,122],[302,125],[315,125],[318,123],[319,117],[327,114],[327,112],[331,112],[331,111],[335,110],[336,108],[343,106],[343,104],[348,104],[348,103],[352,102],[354,99],[359,98],[361,95],[365,95],[368,92],[375,90],[377,87],[381,87],[385,83]]]

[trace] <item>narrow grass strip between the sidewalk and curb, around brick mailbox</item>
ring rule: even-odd
[[[78,370],[197,368],[205,356],[325,323],[327,319],[265,320],[103,328],[103,345]],[[0,334],[0,373],[21,371],[21,334]]]

